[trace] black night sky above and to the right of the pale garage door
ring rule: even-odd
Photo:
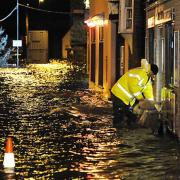
[[[0,19],[3,19],[14,9],[17,1],[0,1]],[[71,0],[44,0],[43,3],[39,4],[39,0],[19,0],[19,3],[24,5],[29,4],[29,7],[47,11],[70,12],[70,1]],[[61,39],[71,26],[71,15],[67,13],[57,14],[40,12],[20,6],[19,38],[21,40],[23,40],[26,35],[26,14],[28,14],[29,17],[29,30],[48,30],[49,58],[61,57],[61,52],[59,51]],[[16,11],[8,19],[0,22],[0,26],[5,29],[5,33],[9,37],[8,42],[12,42],[13,39],[16,39]]]

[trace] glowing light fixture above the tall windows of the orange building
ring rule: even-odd
[[[105,24],[105,20],[104,20],[104,16],[103,14],[100,15],[96,15],[92,18],[87,19],[86,21],[84,21],[88,27],[95,27],[95,26],[104,26]]]

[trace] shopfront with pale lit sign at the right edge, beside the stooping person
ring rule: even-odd
[[[179,0],[146,1],[146,58],[159,66],[156,101],[163,105],[163,116],[180,138],[179,88]]]

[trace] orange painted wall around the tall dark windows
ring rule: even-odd
[[[99,71],[99,27],[96,26],[96,69],[95,69],[95,82],[92,82],[89,78],[89,87],[98,91],[102,91],[106,98],[110,97],[110,89],[115,82],[115,40],[116,40],[116,28],[115,24],[108,20],[108,3],[106,0],[91,0],[90,1],[90,13],[89,17],[96,16],[97,14],[104,14],[104,44],[103,44],[103,87],[98,84],[98,71]],[[89,40],[91,44],[91,30],[89,29]],[[91,46],[89,46],[91,60]],[[91,61],[90,61],[91,63]],[[89,74],[91,74],[91,66],[89,65]]]

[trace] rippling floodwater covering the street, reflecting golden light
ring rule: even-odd
[[[111,102],[66,63],[0,69],[0,179],[180,179],[180,146],[150,129],[116,129]],[[15,169],[3,168],[7,136]]]

